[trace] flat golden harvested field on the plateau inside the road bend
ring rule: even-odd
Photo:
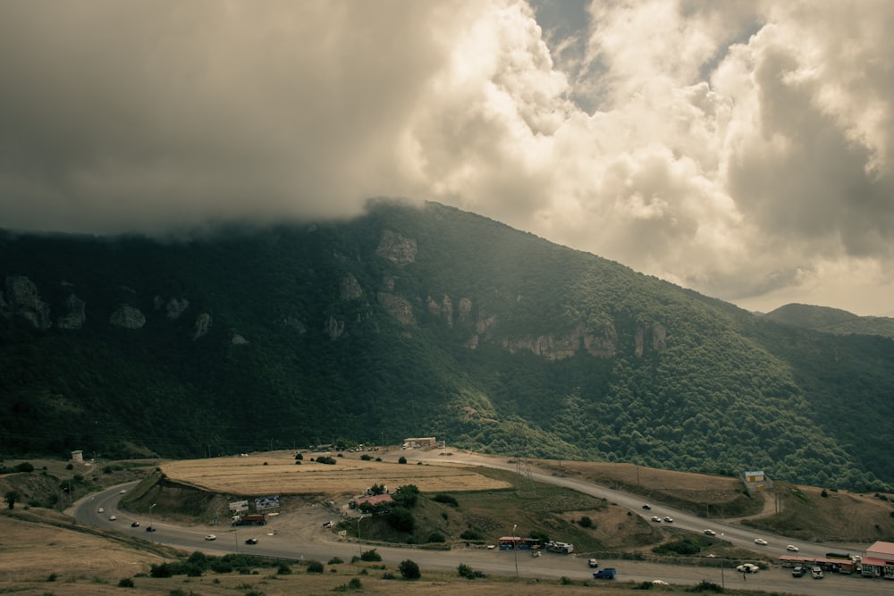
[[[373,484],[389,490],[415,484],[419,491],[486,491],[509,483],[478,474],[474,466],[398,464],[361,460],[358,454],[334,457],[335,465],[318,464],[305,455],[295,465],[291,451],[273,451],[249,457],[212,457],[166,462],[160,467],[171,480],[207,491],[244,496],[266,494],[361,494]]]

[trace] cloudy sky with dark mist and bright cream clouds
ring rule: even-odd
[[[889,0],[0,0],[0,227],[435,200],[894,315]]]

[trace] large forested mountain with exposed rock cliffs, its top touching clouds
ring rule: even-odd
[[[0,280],[7,454],[436,436],[894,483],[894,341],[780,325],[447,206],[164,242],[7,232]]]

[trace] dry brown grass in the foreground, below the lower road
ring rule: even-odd
[[[308,573],[296,563],[289,575],[261,568],[252,575],[207,572],[200,577],[153,578],[148,576],[150,565],[173,560],[174,550],[148,543],[128,544],[116,539],[114,533],[97,533],[73,525],[71,518],[46,509],[16,508],[0,512],[0,536],[0,593],[20,596],[323,596],[339,592],[389,596],[395,592],[414,596],[458,593],[492,596],[508,592],[517,596],[580,593],[632,596],[642,593],[628,582],[576,580],[565,585],[560,581],[495,576],[469,581],[455,573],[425,569],[421,579],[407,581],[401,579],[396,567],[374,563],[325,565],[322,574]],[[394,579],[384,579],[386,574]],[[120,587],[122,579],[130,579],[133,587]],[[359,581],[358,589],[348,589],[352,580]],[[759,592],[728,589],[724,593],[756,596]]]

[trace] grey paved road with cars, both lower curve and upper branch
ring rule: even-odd
[[[413,459],[430,459],[431,461],[443,461],[443,457],[428,456],[425,453],[407,453]],[[399,457],[400,454],[395,456]],[[478,457],[474,454],[456,453],[451,456],[451,461],[470,463],[478,466],[491,466],[510,471],[515,471],[516,466],[506,460],[490,457]],[[630,508],[646,518],[652,515],[669,515],[674,518],[674,525],[694,532],[704,530],[705,520],[691,516],[685,512],[666,508],[653,504],[651,511],[641,508],[642,498],[625,492],[615,491],[607,487],[586,483],[569,478],[560,478],[532,470],[531,476],[537,482],[552,483],[566,486],[576,491],[582,491],[597,497],[609,499],[622,507]],[[423,569],[454,570],[460,563],[484,572],[488,575],[519,575],[519,577],[538,577],[557,579],[562,576],[575,579],[590,577],[591,570],[586,565],[585,558],[574,555],[559,555],[544,553],[542,557],[531,557],[526,551],[485,550],[485,549],[454,549],[450,551],[429,551],[413,548],[401,548],[371,544],[366,541],[339,541],[333,533],[323,528],[323,522],[333,517],[330,510],[324,507],[307,508],[305,510],[290,513],[299,519],[291,519],[288,524],[279,524],[274,519],[271,524],[262,527],[230,527],[222,525],[217,527],[197,526],[181,527],[164,524],[155,516],[132,516],[129,513],[118,510],[117,503],[121,499],[120,491],[128,490],[137,483],[127,483],[120,486],[98,492],[92,496],[80,499],[69,509],[68,513],[76,517],[80,522],[116,529],[122,533],[139,535],[148,541],[156,541],[183,550],[202,550],[219,554],[222,552],[253,552],[267,557],[287,558],[292,560],[316,559],[326,562],[333,557],[348,561],[359,555],[364,550],[375,548],[382,555],[385,563],[397,565],[402,560],[411,558]],[[103,513],[98,509],[103,508]],[[108,516],[117,516],[115,521],[109,521]],[[138,521],[139,527],[131,527],[132,521]],[[147,533],[147,525],[156,527],[156,532]],[[362,528],[362,520],[360,522]],[[755,549],[755,534],[737,525],[711,522],[712,528],[723,534],[724,539],[730,540],[741,546]],[[289,531],[279,531],[278,526],[288,527]],[[296,529],[297,528],[297,529]],[[215,533],[215,541],[206,541],[208,533]],[[762,534],[770,542],[767,547],[761,547],[769,551],[768,554],[776,555],[785,552],[785,545],[792,542],[781,536]],[[247,545],[245,540],[257,538],[256,545]],[[361,530],[362,538],[362,530]],[[807,554],[822,556],[828,550],[851,550],[852,545],[797,543]],[[753,575],[742,575],[733,569],[720,569],[716,567],[689,567],[670,566],[641,561],[600,561],[601,567],[616,567],[618,579],[616,581],[643,582],[654,579],[662,579],[669,583],[694,584],[707,580],[721,584],[729,588],[762,590],[765,592],[787,592],[791,594],[827,595],[827,596],[866,596],[867,594],[890,593],[894,596],[894,582],[881,579],[865,579],[857,575],[826,574],[822,580],[814,580],[809,576],[795,578],[788,569],[773,568],[761,571]]]

